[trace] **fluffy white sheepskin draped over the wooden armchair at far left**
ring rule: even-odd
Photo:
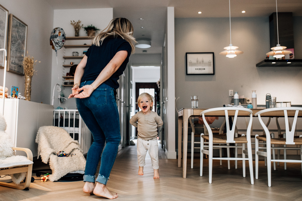
[[[29,165],[33,162],[28,160],[27,157],[16,155],[12,147],[14,143],[11,141],[8,134],[5,132],[7,127],[5,118],[0,114],[0,168],[8,168],[19,165]],[[11,174],[11,179],[15,184],[20,184],[24,180],[26,173]]]

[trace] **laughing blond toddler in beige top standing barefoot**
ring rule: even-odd
[[[143,168],[146,165],[145,157],[147,150],[151,157],[152,168],[154,169],[154,179],[159,178],[158,165],[158,143],[157,127],[162,126],[163,122],[156,112],[152,111],[153,96],[149,93],[142,93],[137,99],[138,107],[141,111],[137,112],[131,119],[130,124],[137,127],[137,160],[138,175],[143,175]]]

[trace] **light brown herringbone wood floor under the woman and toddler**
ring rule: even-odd
[[[39,164],[36,162],[36,164]],[[219,165],[214,161],[213,182],[208,183],[208,161],[204,159],[204,176],[199,176],[199,159],[194,159],[190,168],[188,158],[187,178],[182,178],[182,168],[177,160],[166,159],[159,150],[159,179],[153,179],[153,169],[149,155],[146,157],[144,175],[137,174],[136,146],[123,148],[117,155],[108,181],[108,188],[118,193],[117,200],[302,200],[301,165],[288,163],[284,171],[281,164],[272,171],[272,187],[267,186],[267,170],[264,162],[259,165],[259,179],[250,184],[248,163],[246,178],[242,177],[242,165],[231,170],[226,162]],[[240,164],[240,162],[239,162]],[[36,165],[37,166],[37,165]],[[39,167],[35,167],[39,168]],[[255,170],[254,170],[255,172]],[[38,178],[33,174],[35,178]],[[31,183],[30,190],[16,190],[0,187],[1,201],[15,200],[94,200],[105,199],[82,192],[84,183],[78,182],[41,182]]]

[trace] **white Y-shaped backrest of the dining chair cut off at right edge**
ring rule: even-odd
[[[298,113],[299,111],[302,111],[301,107],[281,107],[281,108],[268,108],[261,110],[255,114],[255,116],[258,116],[258,119],[260,121],[260,124],[262,125],[265,135],[267,138],[270,137],[269,130],[267,126],[264,124],[262,121],[261,115],[265,116],[265,113],[267,112],[274,112],[274,111],[284,111],[284,120],[285,120],[285,138],[286,138],[286,143],[285,144],[295,144],[294,143],[294,134],[295,134],[295,128],[297,124],[297,118],[298,118]],[[294,111],[294,121],[293,124],[290,128],[290,123],[288,122],[288,111]],[[291,129],[291,130],[290,130]]]

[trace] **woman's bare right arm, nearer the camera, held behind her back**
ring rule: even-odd
[[[117,69],[120,68],[120,65],[122,65],[122,63],[127,58],[127,55],[128,55],[128,52],[126,50],[118,51],[114,55],[114,57],[109,61],[109,63],[105,66],[105,68],[101,71],[101,73],[98,75],[98,77],[95,79],[95,81],[90,85],[85,85],[79,89],[76,89],[78,91],[78,94],[76,94],[74,97],[75,98],[89,97],[90,94],[93,92],[93,90],[95,90],[98,86],[100,86],[101,83],[108,80],[108,78],[110,78],[111,75],[113,75],[117,71]],[[83,69],[83,72],[84,72],[84,69]],[[82,92],[79,93],[80,91],[82,91]]]

